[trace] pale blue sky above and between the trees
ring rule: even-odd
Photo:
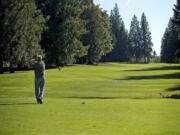
[[[107,10],[108,13],[118,4],[120,15],[129,30],[133,15],[135,14],[139,21],[144,12],[149,22],[152,34],[153,49],[160,54],[161,39],[170,17],[173,16],[174,4],[176,0],[94,0],[95,4]]]

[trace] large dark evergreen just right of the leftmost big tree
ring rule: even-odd
[[[80,37],[85,33],[80,19],[82,0],[52,0],[45,50],[48,63],[68,64],[87,54]]]

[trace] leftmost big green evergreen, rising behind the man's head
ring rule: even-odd
[[[36,9],[34,0],[8,0],[2,2],[1,51],[10,66],[27,65],[30,59],[42,54],[39,42],[45,20]]]

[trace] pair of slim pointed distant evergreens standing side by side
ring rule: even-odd
[[[134,15],[128,37],[130,59],[135,59],[135,62],[148,63],[153,46],[151,40],[151,32],[149,31],[149,24],[145,14],[142,14],[140,23],[136,15]]]

